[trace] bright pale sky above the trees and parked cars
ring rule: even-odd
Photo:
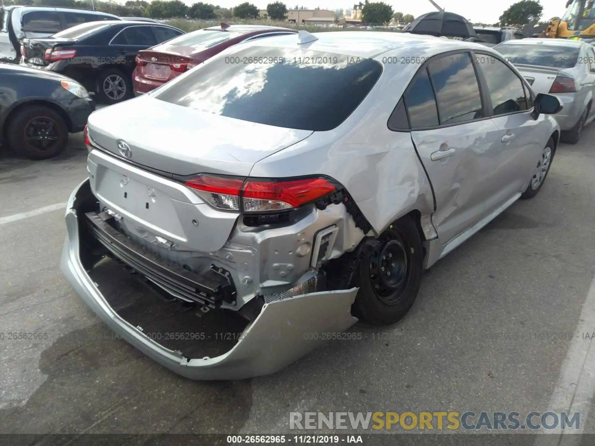
[[[187,5],[191,5],[200,0],[182,0]],[[205,1],[205,0],[203,0]],[[233,8],[245,0],[209,0],[222,8]],[[267,8],[267,4],[273,0],[250,0],[261,10]],[[383,0],[393,7],[394,12],[403,12],[403,14],[412,14],[414,17],[425,12],[435,11],[436,8],[428,0]],[[471,22],[496,23],[502,12],[507,10],[518,0],[434,0],[441,8],[446,11],[461,14]],[[124,0],[120,0],[124,2]],[[565,0],[540,0],[543,6],[543,20],[549,20],[552,17],[561,17],[565,11]],[[308,8],[320,7],[323,10],[334,11],[337,8],[343,10],[353,8],[353,4],[359,3],[359,0],[349,2],[346,0],[285,0],[287,8],[293,8],[296,4]]]

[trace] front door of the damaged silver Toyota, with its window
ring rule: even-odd
[[[531,116],[533,100],[521,77],[491,54],[475,53],[475,62],[488,111],[498,128],[490,184],[495,190],[494,205],[499,206],[527,186],[547,139],[540,134],[543,119]]]

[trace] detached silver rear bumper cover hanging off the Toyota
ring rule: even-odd
[[[101,284],[95,284],[83,266],[79,225],[83,213],[77,211],[77,195],[83,186],[88,187],[87,181],[79,184],[68,200],[65,216],[68,234],[62,250],[62,272],[115,334],[168,369],[190,379],[267,375],[318,347],[323,342],[321,334],[343,332],[357,321],[350,309],[358,288],[323,291],[265,303],[233,348],[220,356],[188,358],[180,351],[165,348],[121,318],[102,295]]]

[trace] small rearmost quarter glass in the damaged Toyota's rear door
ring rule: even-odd
[[[405,105],[412,128],[439,125],[436,98],[428,71],[420,71],[405,93]]]

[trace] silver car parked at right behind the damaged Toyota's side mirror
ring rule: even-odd
[[[566,142],[575,144],[595,119],[595,52],[580,40],[509,40],[494,47],[515,65],[536,93],[556,96],[564,109],[556,115]]]

